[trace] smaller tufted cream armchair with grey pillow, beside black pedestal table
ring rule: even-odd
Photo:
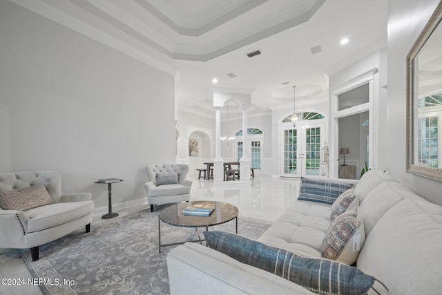
[[[144,187],[152,212],[154,205],[190,200],[192,182],[186,180],[189,165],[148,164],[146,172],[148,182]]]

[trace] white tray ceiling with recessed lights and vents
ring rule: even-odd
[[[291,108],[294,85],[326,102],[327,75],[387,45],[385,0],[10,1],[177,75],[179,108],[211,117],[212,86],[254,89],[250,114]]]

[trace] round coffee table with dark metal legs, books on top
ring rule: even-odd
[[[189,216],[182,213],[182,211],[190,205],[201,203],[214,205],[213,212],[210,216]],[[236,219],[235,232],[238,234],[238,208],[233,206],[233,204],[215,201],[193,201],[174,204],[163,209],[160,214],[158,214],[158,249],[161,252],[161,247],[184,244],[184,242],[161,244],[161,222],[175,227],[195,227],[195,231],[198,234],[198,240],[193,240],[191,242],[199,241],[202,243],[202,239],[198,233],[198,227],[206,227],[206,231],[209,231],[209,227],[213,225],[221,225],[222,223],[229,222],[233,219]]]

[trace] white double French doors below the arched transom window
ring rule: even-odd
[[[280,129],[280,176],[320,175],[320,153],[325,123],[282,126]]]

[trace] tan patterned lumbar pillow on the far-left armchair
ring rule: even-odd
[[[0,192],[0,207],[3,210],[26,211],[53,202],[43,184],[35,184],[26,189]]]

